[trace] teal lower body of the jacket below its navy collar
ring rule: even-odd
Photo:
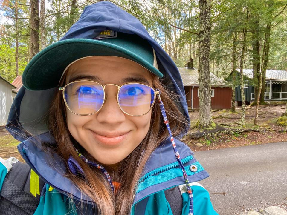
[[[7,160],[0,158],[0,190],[6,174],[11,170],[12,163],[18,162],[14,157]],[[33,171],[32,171],[33,172]],[[171,172],[169,174],[172,174]],[[39,180],[36,179],[36,180]],[[37,184],[39,182],[33,181],[30,183],[31,195],[41,195],[40,203],[34,215],[77,215],[82,214],[77,209],[75,203],[68,198],[68,196],[58,191],[57,188],[51,187],[46,183],[42,192],[37,191]],[[216,215],[213,206],[210,202],[208,192],[198,182],[190,183],[193,191],[193,203],[195,215]],[[181,215],[187,215],[189,212],[189,199],[187,188],[185,184],[178,185],[181,191],[182,198],[182,212]],[[152,193],[135,202],[132,207],[131,215],[173,215],[169,202],[167,202],[164,190]]]

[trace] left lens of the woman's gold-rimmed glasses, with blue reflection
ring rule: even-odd
[[[95,113],[104,102],[103,87],[92,81],[72,82],[65,87],[64,94],[68,107],[76,114]]]

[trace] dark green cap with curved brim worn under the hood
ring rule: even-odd
[[[28,63],[22,83],[28,90],[57,87],[66,68],[77,59],[88,56],[123,57],[163,77],[158,70],[155,51],[147,40],[134,34],[106,30],[95,39],[65,39],[46,47]]]

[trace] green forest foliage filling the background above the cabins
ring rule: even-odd
[[[3,16],[9,22],[0,22],[0,75],[10,82],[16,77],[15,38],[19,36],[19,75],[29,61],[29,4],[18,2],[18,27],[15,19],[15,0],[0,1]],[[96,0],[48,0],[45,7],[45,43],[50,45],[62,38],[75,23],[86,5]],[[151,36],[171,56],[178,67],[184,67],[192,57],[198,68],[199,1],[192,0],[115,0],[123,10],[137,17]],[[259,20],[259,40],[263,46],[265,27],[271,22],[271,40],[268,69],[287,69],[287,10],[285,0],[236,0],[211,2],[211,71],[225,78],[231,73],[233,60],[233,37],[237,32],[236,57],[242,50],[242,29],[247,27],[247,54],[244,67],[252,68],[252,30],[254,20]],[[246,13],[250,18],[246,20]],[[175,26],[175,27],[174,27]],[[194,32],[194,33],[191,33]],[[260,55],[262,56],[262,49]],[[236,65],[239,68],[239,61]],[[252,82],[250,82],[252,84]],[[238,85],[238,83],[235,83]]]

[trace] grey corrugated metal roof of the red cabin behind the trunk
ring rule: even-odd
[[[189,69],[187,67],[178,67],[184,86],[198,86],[198,69]],[[230,83],[210,73],[210,84],[213,87],[228,87]]]

